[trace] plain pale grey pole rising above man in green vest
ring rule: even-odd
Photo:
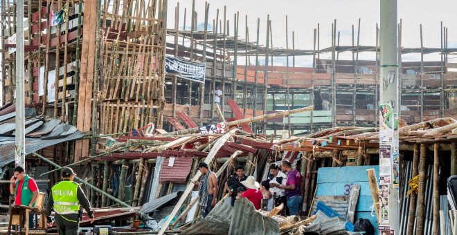
[[[24,1],[17,1],[16,6],[16,151],[15,164],[25,167],[26,158],[24,129]],[[29,36],[30,37],[30,36]],[[29,77],[31,79],[31,77]]]

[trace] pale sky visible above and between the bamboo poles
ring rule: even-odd
[[[183,28],[184,8],[186,28],[190,28],[192,0],[168,0],[168,28],[174,28],[174,8],[179,2],[179,28]],[[375,46],[376,23],[379,23],[379,1],[373,0],[208,0],[208,28],[212,29],[213,19],[219,9],[219,19],[223,19],[226,6],[226,19],[230,21],[230,34],[233,35],[233,22],[236,12],[240,14],[239,34],[245,39],[245,25],[249,28],[249,41],[256,41],[257,19],[260,19],[260,44],[265,45],[267,15],[271,19],[273,46],[286,47],[286,15],[288,18],[289,48],[292,48],[292,31],[295,33],[295,48],[313,48],[313,30],[320,24],[321,48],[331,46],[332,23],[337,19],[337,32],[340,32],[340,45],[352,46],[352,25],[357,27],[359,18],[361,46]],[[205,1],[195,1],[198,13],[198,30],[203,30]],[[398,22],[402,19],[402,46],[420,48],[420,24],[424,47],[440,48],[440,23],[448,29],[448,47],[457,47],[457,9],[456,0],[399,0],[397,1]],[[246,21],[246,15],[248,17]],[[331,55],[321,55],[330,59]],[[449,62],[457,62],[456,55],[449,55]],[[340,59],[352,59],[351,53],[343,53]],[[360,53],[359,59],[375,59],[374,53]],[[424,60],[439,60],[440,55],[424,55]],[[420,60],[420,54],[403,55],[403,61]],[[285,59],[276,59],[278,65],[284,65]],[[296,57],[296,66],[310,66],[312,58]],[[239,63],[244,63],[242,58]]]

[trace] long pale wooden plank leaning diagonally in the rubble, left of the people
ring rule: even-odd
[[[222,135],[222,137],[219,138],[219,140],[217,140],[215,142],[214,147],[210,150],[210,153],[208,153],[208,157],[206,157],[206,159],[205,159],[206,164],[210,164],[211,162],[213,162],[216,153],[224,145],[224,143],[228,140],[228,138],[231,138],[232,135],[235,134],[236,131],[238,131],[238,129],[236,129],[236,128],[231,129],[231,131],[228,131],[227,133]],[[200,178],[200,176],[201,176],[200,171],[197,171],[195,176],[192,177],[192,181],[197,181]],[[170,213],[170,216],[168,216],[168,220],[165,221],[162,228],[160,229],[159,235],[164,234],[165,231],[168,229],[168,226],[172,222],[174,216],[176,216],[176,214],[179,212],[179,209],[181,209],[181,206],[183,205],[184,201],[186,201],[186,198],[188,197],[188,195],[190,194],[190,191],[192,191],[193,188],[194,188],[194,183],[190,182],[187,185],[186,191],[184,191],[183,194],[181,195],[181,198],[179,198],[177,205],[174,206],[174,209]]]

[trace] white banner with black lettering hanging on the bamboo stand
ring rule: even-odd
[[[177,59],[167,55],[165,56],[165,73],[204,84],[206,63]]]

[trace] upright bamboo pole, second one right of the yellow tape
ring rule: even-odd
[[[440,234],[440,156],[438,144],[433,144],[433,235]]]

